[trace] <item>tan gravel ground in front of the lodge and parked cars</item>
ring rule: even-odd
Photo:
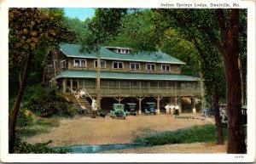
[[[109,116],[105,118],[78,116],[62,119],[59,127],[52,127],[49,133],[38,134],[27,138],[26,141],[34,144],[52,140],[51,145],[125,144],[131,143],[132,139],[145,130],[175,130],[207,123],[212,122],[177,119],[170,115],[127,116],[126,120],[112,119]]]

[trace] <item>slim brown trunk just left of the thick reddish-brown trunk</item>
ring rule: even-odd
[[[224,144],[223,139],[223,129],[221,126],[221,118],[219,115],[219,107],[218,107],[218,87],[216,84],[213,84],[213,107],[214,107],[214,118],[215,118],[215,125],[216,125],[216,134],[217,134],[217,142],[216,144]]]

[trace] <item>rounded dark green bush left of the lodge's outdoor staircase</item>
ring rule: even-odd
[[[55,89],[32,86],[26,90],[25,95],[25,107],[39,116],[73,116],[75,112],[73,105],[61,93],[55,92]]]

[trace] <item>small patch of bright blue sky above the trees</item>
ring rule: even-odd
[[[94,13],[94,8],[64,8],[64,12],[67,17],[78,18],[79,20],[85,20],[91,18]]]

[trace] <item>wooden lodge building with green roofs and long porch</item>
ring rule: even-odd
[[[132,102],[139,113],[144,102],[155,102],[157,113],[167,103],[182,112],[183,97],[201,96],[200,79],[181,74],[183,61],[162,52],[131,54],[129,48],[100,48],[100,96],[104,109],[113,103]],[[76,44],[61,44],[49,52],[44,82],[54,82],[62,93],[85,88],[96,98],[96,53],[80,52]],[[90,99],[88,99],[90,100]],[[109,105],[111,104],[111,105]],[[194,108],[195,108],[195,103]]]

